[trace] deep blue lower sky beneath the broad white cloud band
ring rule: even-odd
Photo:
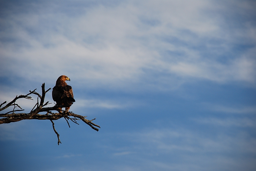
[[[15,128],[11,130],[7,124],[1,125],[4,129],[1,145],[5,147],[1,152],[2,168],[173,170],[169,167],[175,165],[178,169],[174,170],[181,167],[186,170],[222,170],[227,164],[218,159],[225,159],[236,162],[235,166],[229,165],[229,170],[253,170],[254,164],[247,164],[250,164],[248,160],[254,159],[250,147],[254,146],[255,127],[243,125],[243,120],[255,121],[255,114],[221,112],[211,104],[232,105],[237,109],[253,105],[255,89],[200,82],[184,85],[181,91],[110,95],[114,99],[125,97],[144,102],[144,105],[131,109],[90,109],[88,118],[97,118],[95,123],[101,126],[99,132],[81,122],[80,125],[70,123],[71,128],[68,128],[64,119],[55,121],[62,142],[59,146],[50,121],[11,123],[9,125]],[[181,97],[180,94],[185,95]],[[83,110],[76,113],[82,114]],[[212,123],[204,123],[209,118],[213,118]],[[163,144],[166,149],[161,147]],[[168,166],[159,166],[157,162],[168,163]]]

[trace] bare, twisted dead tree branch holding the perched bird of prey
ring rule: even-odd
[[[7,109],[7,108],[9,108],[11,106],[14,107],[9,112],[0,114],[0,124],[7,124],[7,123],[11,123],[11,122],[17,122],[17,121],[21,121],[21,120],[25,120],[25,119],[50,120],[51,123],[52,123],[52,128],[53,128],[53,130],[54,130],[54,132],[55,132],[55,134],[57,135],[57,138],[58,138],[58,145],[59,145],[59,143],[61,143],[60,142],[60,138],[59,138],[60,135],[55,130],[54,122],[52,120],[58,120],[60,118],[64,118],[67,121],[67,124],[69,125],[69,128],[70,128],[70,124],[69,124],[68,120],[71,120],[72,122],[74,122],[76,124],[78,124],[77,120],[82,120],[84,123],[89,125],[92,129],[94,129],[96,131],[99,131],[98,128],[100,128],[100,126],[92,123],[92,120],[95,120],[95,119],[88,120],[88,119],[85,119],[86,116],[74,114],[73,112],[66,112],[65,110],[60,110],[60,108],[65,108],[67,106],[55,105],[53,107],[44,107],[44,106],[46,106],[48,104],[51,104],[49,102],[44,103],[45,94],[51,88],[49,88],[49,89],[47,89],[45,91],[45,83],[42,84],[41,87],[42,87],[42,95],[40,95],[39,93],[35,92],[36,89],[34,89],[33,91],[30,90],[29,91],[30,93],[28,93],[26,95],[16,96],[10,103],[7,103],[5,101],[2,104],[0,104],[0,111],[2,111],[4,109]],[[31,94],[37,95],[37,103],[32,108],[30,113],[14,113],[14,112],[18,112],[18,111],[23,111],[24,110],[18,104],[15,103],[16,100],[21,99],[21,98],[33,100],[32,97],[29,96]],[[39,102],[39,99],[40,99],[40,102]],[[6,104],[6,105],[4,107],[2,107],[2,105],[4,105],[4,104]],[[20,109],[15,110],[15,108],[20,108],[21,110]],[[57,113],[53,113],[52,111],[57,111]],[[47,113],[46,114],[39,114],[41,112],[47,112]]]

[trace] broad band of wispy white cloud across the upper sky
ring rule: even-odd
[[[124,1],[85,6],[75,16],[54,7],[1,19],[9,29],[0,34],[9,40],[1,41],[1,76],[54,81],[65,73],[87,84],[122,87],[161,72],[184,80],[255,83],[255,48],[231,51],[243,45],[241,38],[254,44],[256,28],[250,20],[239,29],[228,27],[232,21],[214,15],[225,9],[212,1]],[[220,54],[227,54],[227,62],[220,62]]]

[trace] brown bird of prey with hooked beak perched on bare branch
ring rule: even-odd
[[[52,99],[56,105],[63,105],[66,111],[69,111],[70,106],[75,102],[72,87],[67,85],[65,81],[70,81],[67,76],[60,76],[54,88],[52,88]],[[59,108],[61,109],[61,108]]]

